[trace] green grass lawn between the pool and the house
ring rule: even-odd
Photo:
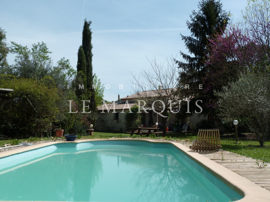
[[[94,132],[92,136],[79,136],[78,139],[109,139],[112,137],[123,138],[126,136],[130,136],[130,134],[124,133],[111,133],[111,132]],[[139,135],[133,135],[133,138],[140,138]],[[146,136],[143,135],[143,138]],[[155,135],[149,135],[151,139],[156,139]],[[182,132],[182,133],[167,133],[167,137],[165,140],[180,140],[190,143],[190,141],[195,140],[197,137],[196,132]],[[159,137],[163,138],[163,137]],[[30,137],[28,139],[8,139],[8,140],[0,140],[0,146],[3,147],[4,144],[17,145],[20,142],[28,141],[28,142],[37,142],[41,140],[50,140],[48,137]],[[264,147],[259,146],[259,142],[256,140],[250,140],[246,137],[239,138],[239,144],[235,144],[235,139],[233,135],[222,135],[220,138],[222,149],[235,152],[237,154],[241,154],[247,157],[251,157],[254,159],[260,159],[262,161],[270,162],[270,141],[265,142]]]

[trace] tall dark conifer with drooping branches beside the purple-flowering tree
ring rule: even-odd
[[[193,10],[190,15],[190,21],[186,22],[188,29],[191,31],[191,36],[183,36],[181,34],[181,38],[191,55],[180,51],[184,62],[177,60],[176,62],[179,68],[184,70],[181,77],[188,78],[187,80],[191,84],[195,84],[194,86],[203,84],[203,78],[207,73],[208,67],[204,61],[208,54],[208,39],[214,37],[217,33],[221,33],[221,30],[224,31],[228,20],[230,20],[230,12],[227,13],[222,9],[220,0],[201,0],[198,4],[198,11]],[[195,98],[190,103],[191,114],[184,113],[185,116],[194,114],[196,100],[203,100],[202,114],[210,114],[210,119],[214,124],[215,112],[210,106],[210,102],[215,99],[214,93],[212,91],[203,93],[203,90],[198,89],[194,95]]]

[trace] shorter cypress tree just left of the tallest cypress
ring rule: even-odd
[[[79,84],[86,88],[86,60],[83,47],[78,50],[77,78],[76,78],[76,96],[82,95],[84,89],[79,89]]]

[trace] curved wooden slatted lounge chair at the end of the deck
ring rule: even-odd
[[[197,139],[192,141],[190,149],[194,151],[214,151],[220,149],[220,134],[218,129],[199,130]]]

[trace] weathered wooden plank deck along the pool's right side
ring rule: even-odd
[[[222,149],[219,149],[218,152],[198,153],[270,191],[270,163],[266,163],[267,166],[264,166],[264,168],[259,168],[256,159]],[[262,165],[262,161],[258,162],[259,165]]]

